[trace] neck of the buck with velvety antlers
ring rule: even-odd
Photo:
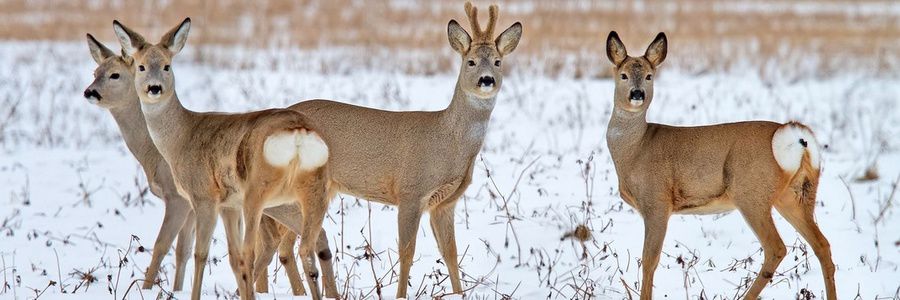
[[[477,152],[484,141],[495,101],[496,96],[482,99],[469,95],[457,81],[450,105],[441,112],[441,125],[458,139],[461,147]]]

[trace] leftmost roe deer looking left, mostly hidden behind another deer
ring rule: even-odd
[[[134,75],[131,74],[131,61],[125,56],[116,55],[105,45],[97,41],[91,34],[87,35],[88,48],[91,57],[97,62],[94,70],[94,81],[84,91],[88,102],[109,110],[119,127],[119,131],[125,140],[125,146],[138,160],[147,176],[150,192],[163,199],[166,214],[160,232],[156,237],[152,250],[152,260],[147,267],[143,288],[150,289],[156,283],[157,272],[162,263],[162,258],[168,252],[175,236],[178,235],[178,245],[175,252],[175,281],[173,290],[181,291],[184,283],[184,271],[188,255],[191,251],[194,234],[194,217],[191,204],[178,195],[175,182],[169,165],[150,139],[147,131],[147,123],[141,113],[141,104],[137,91],[134,89]],[[304,294],[303,283],[300,282],[300,273],[297,271],[296,262],[293,260],[293,243],[296,236],[285,234],[286,228],[275,223],[269,217],[263,219],[266,226],[261,227],[263,239],[259,245],[261,249],[259,257],[265,261],[265,267],[272,260],[275,249],[268,245],[275,241],[268,239],[280,239],[282,244],[289,247],[279,248],[281,260],[285,264],[291,288],[297,295]],[[180,232],[179,232],[180,231]],[[266,260],[266,257],[268,259]],[[260,258],[257,258],[260,260]],[[291,265],[293,264],[293,265]],[[260,277],[265,280],[265,278]],[[263,282],[265,284],[265,282]],[[264,285],[268,287],[267,285]],[[263,291],[264,292],[264,291]]]

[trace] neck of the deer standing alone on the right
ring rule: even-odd
[[[617,168],[639,153],[646,132],[647,110],[630,112],[618,105],[613,107],[606,130],[606,144]]]

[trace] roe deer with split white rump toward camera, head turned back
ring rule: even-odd
[[[130,57],[134,88],[153,144],[172,170],[178,193],[194,209],[196,224],[192,299],[199,299],[217,215],[225,223],[229,262],[241,299],[254,299],[255,248],[265,213],[301,233],[303,267],[314,299],[318,270],[312,247],[330,253],[322,218],[301,218],[309,207],[325,205],[324,168],[328,146],[309,128],[306,118],[288,109],[250,113],[200,113],[181,105],[171,70],[184,47],[190,19],[166,33],[157,44],[113,22],[116,37]],[[299,205],[300,214],[297,213]],[[244,228],[240,220],[243,213]],[[242,237],[243,235],[243,237]],[[321,239],[320,239],[321,237]],[[304,252],[304,249],[306,250]],[[330,258],[330,257],[329,257]],[[331,261],[322,259],[325,282],[333,282]],[[326,288],[336,287],[326,284]]]

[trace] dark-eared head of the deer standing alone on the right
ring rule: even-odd
[[[666,34],[660,32],[647,47],[643,56],[628,56],[619,35],[612,31],[606,38],[606,57],[616,65],[613,80],[616,83],[614,103],[630,112],[643,112],[653,100],[653,76],[656,68],[666,59]]]

